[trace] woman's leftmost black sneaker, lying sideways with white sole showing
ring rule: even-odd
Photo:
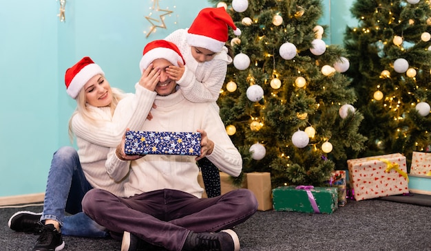
[[[8,221],[10,229],[17,232],[32,232],[39,234],[42,230],[41,212],[15,212]]]

